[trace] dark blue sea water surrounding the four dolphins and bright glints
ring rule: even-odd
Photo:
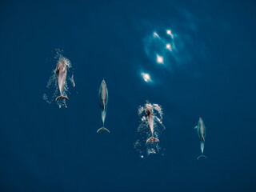
[[[1,191],[256,190],[254,1],[0,4]],[[160,66],[146,55],[145,38],[164,29],[189,58]],[[74,66],[68,108],[42,99],[55,48]],[[111,134],[96,134],[103,77]],[[146,99],[164,112],[163,156],[134,150]],[[199,116],[206,161],[196,160]]]

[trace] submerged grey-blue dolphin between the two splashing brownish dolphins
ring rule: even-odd
[[[97,133],[98,132],[110,133],[110,131],[104,127],[104,122],[105,122],[105,118],[106,118],[107,100],[108,100],[108,91],[107,91],[106,82],[105,82],[104,78],[102,80],[101,86],[99,87],[98,97],[99,97],[99,105],[101,106],[101,109],[102,109],[103,126],[102,126],[102,128],[97,130]]]

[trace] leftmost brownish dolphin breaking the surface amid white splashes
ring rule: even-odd
[[[58,89],[59,89],[59,92],[61,93],[61,95],[58,96],[58,98],[56,98],[56,101],[58,101],[58,99],[64,99],[64,98],[69,100],[69,98],[63,95],[63,87],[66,82],[66,64],[63,61],[63,59],[58,60],[55,72],[58,78]]]

